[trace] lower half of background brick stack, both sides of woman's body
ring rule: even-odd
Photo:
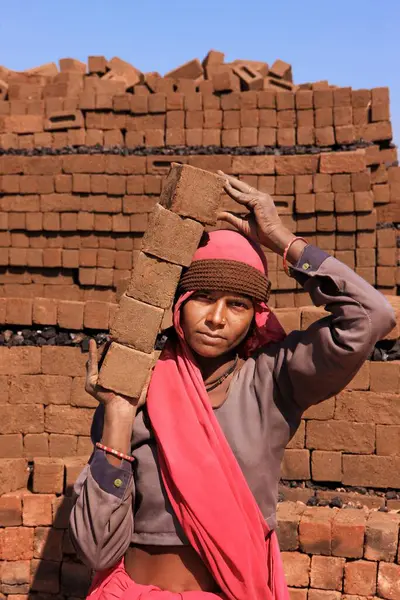
[[[277,314],[290,331],[321,310]],[[400,318],[396,337],[399,325]],[[76,561],[67,532],[72,484],[92,451],[97,405],[84,391],[85,362],[77,348],[0,348],[2,600],[86,597],[91,573]],[[344,392],[305,414],[286,450],[286,481],[315,486],[280,488],[294,501],[278,505],[292,600],[399,598],[400,500],[360,490],[400,488],[399,380],[399,362],[366,363]],[[316,487],[329,482],[350,487]],[[363,508],[306,507],[314,494]]]

